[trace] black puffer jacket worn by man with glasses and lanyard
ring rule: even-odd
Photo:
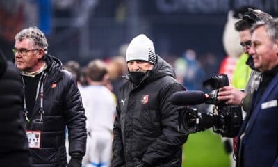
[[[57,58],[47,55],[46,79],[44,79],[44,115],[40,123],[40,95],[35,101],[31,123],[27,130],[40,130],[40,149],[31,149],[33,166],[66,166],[65,127],[69,130],[70,154],[85,154],[86,129],[81,95],[72,74],[62,70]]]

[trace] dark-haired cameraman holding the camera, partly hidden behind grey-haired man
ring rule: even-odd
[[[254,23],[259,20],[268,20],[272,17],[268,13],[264,13],[261,10],[249,9],[247,13],[244,14],[243,19],[236,22],[235,29],[239,32],[240,45],[243,45],[246,54],[249,54],[251,47],[251,27]],[[249,56],[246,64],[252,69],[250,78],[245,86],[245,91],[238,90],[233,86],[224,86],[220,88],[218,93],[218,100],[226,101],[226,104],[231,105],[241,105],[243,109],[247,112],[250,109],[250,102],[252,101],[252,93],[259,87],[259,81],[261,79],[261,72],[256,70],[254,67],[254,61],[252,56]],[[246,98],[245,98],[246,97]]]

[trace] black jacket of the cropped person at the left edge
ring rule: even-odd
[[[8,62],[0,77],[0,166],[30,167],[23,127],[23,84],[17,68]]]

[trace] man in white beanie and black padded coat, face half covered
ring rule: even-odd
[[[187,135],[178,132],[178,110],[170,96],[185,88],[152,40],[138,35],[126,50],[128,81],[117,96],[113,167],[181,166]]]

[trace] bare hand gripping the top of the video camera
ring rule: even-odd
[[[218,100],[226,101],[225,104],[241,105],[241,100],[246,96],[241,90],[234,88],[233,86],[224,86],[219,89]]]

